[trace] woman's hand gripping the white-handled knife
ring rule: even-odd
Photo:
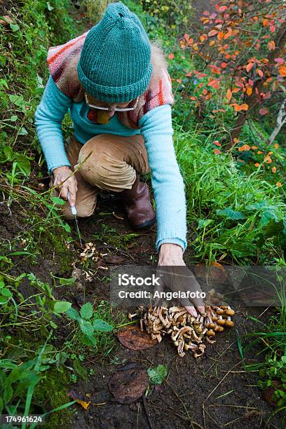
[[[71,173],[72,173],[72,170],[66,165],[55,168],[55,170],[53,170],[53,177],[54,177],[53,186],[56,186],[57,189],[59,189],[60,196],[64,200],[67,200],[67,193],[69,192],[69,204],[76,205],[77,183],[76,183],[76,177],[74,175],[69,177]],[[69,177],[69,179],[67,179],[67,177]],[[64,183],[60,185],[60,183],[62,182]],[[57,186],[57,185],[60,185],[60,186]]]

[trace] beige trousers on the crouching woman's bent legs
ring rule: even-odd
[[[97,195],[101,190],[121,192],[124,189],[131,189],[136,173],[144,175],[149,171],[142,135],[121,137],[100,134],[88,140],[86,144],[81,144],[74,135],[71,135],[67,139],[66,150],[71,170],[75,170],[91,153],[75,172],[78,185],[76,211],[79,217],[93,214]],[[53,186],[53,176],[50,186]],[[55,195],[59,195],[56,189]],[[69,203],[62,207],[65,219],[72,219]]]

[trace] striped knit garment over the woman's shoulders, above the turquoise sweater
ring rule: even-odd
[[[81,49],[88,32],[48,50],[48,68],[57,88],[74,100],[84,100],[84,89],[77,75],[77,64]],[[152,57],[151,57],[152,60]],[[152,61],[156,68],[156,58]],[[160,76],[154,78],[153,76]],[[132,111],[117,112],[118,119],[128,128],[139,128],[139,120],[148,111],[163,104],[173,104],[172,83],[167,69],[161,68],[159,73],[153,73],[147,90],[139,96],[137,106]]]

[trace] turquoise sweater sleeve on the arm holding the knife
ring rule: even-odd
[[[62,165],[70,166],[64,150],[62,120],[71,103],[71,98],[57,89],[50,76],[35,114],[36,133],[50,172]]]

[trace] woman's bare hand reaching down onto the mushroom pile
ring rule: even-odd
[[[205,313],[203,299],[198,297],[202,290],[195,276],[184,263],[181,246],[171,243],[161,245],[157,270],[161,277],[161,286],[156,288],[158,292],[168,287],[171,292],[195,294],[195,298],[179,299],[180,303],[194,317],[198,315],[196,308],[201,314]]]

